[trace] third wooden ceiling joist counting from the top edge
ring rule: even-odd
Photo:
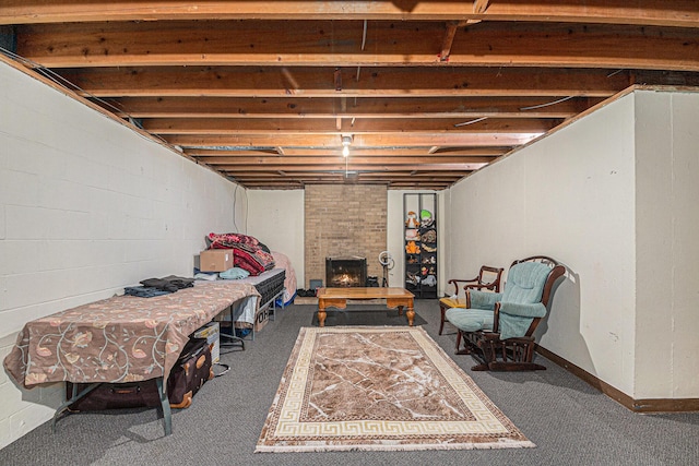
[[[352,75],[354,70],[341,69]],[[630,85],[626,71],[523,68],[367,68],[335,91],[328,68],[109,68],[63,70],[90,97],[609,97]],[[285,74],[294,76],[292,88]]]

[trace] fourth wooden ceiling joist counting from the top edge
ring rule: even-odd
[[[330,97],[122,97],[104,106],[132,118],[569,118],[602,98],[570,98],[555,105],[548,105],[555,101],[548,97],[379,97],[357,98],[344,107],[340,101]]]

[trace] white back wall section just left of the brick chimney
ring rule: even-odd
[[[258,238],[272,251],[286,254],[296,272],[296,283],[304,278],[304,190],[247,190],[248,235]]]

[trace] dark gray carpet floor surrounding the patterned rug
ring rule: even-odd
[[[437,335],[437,301],[415,306],[416,322],[535,449],[254,454],[298,330],[313,325],[316,307],[293,304],[277,310],[245,351],[222,355],[232,370],[208,382],[191,407],[174,411],[171,435],[164,437],[156,409],[69,415],[59,420],[56,433],[46,422],[0,450],[0,465],[699,464],[699,413],[633,414],[541,356],[537,361],[546,371],[472,372],[470,356],[453,355],[453,330]],[[328,325],[406,325],[404,316],[374,309],[333,312]]]

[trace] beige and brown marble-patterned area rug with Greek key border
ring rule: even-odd
[[[422,327],[303,327],[257,452],[532,447]]]

